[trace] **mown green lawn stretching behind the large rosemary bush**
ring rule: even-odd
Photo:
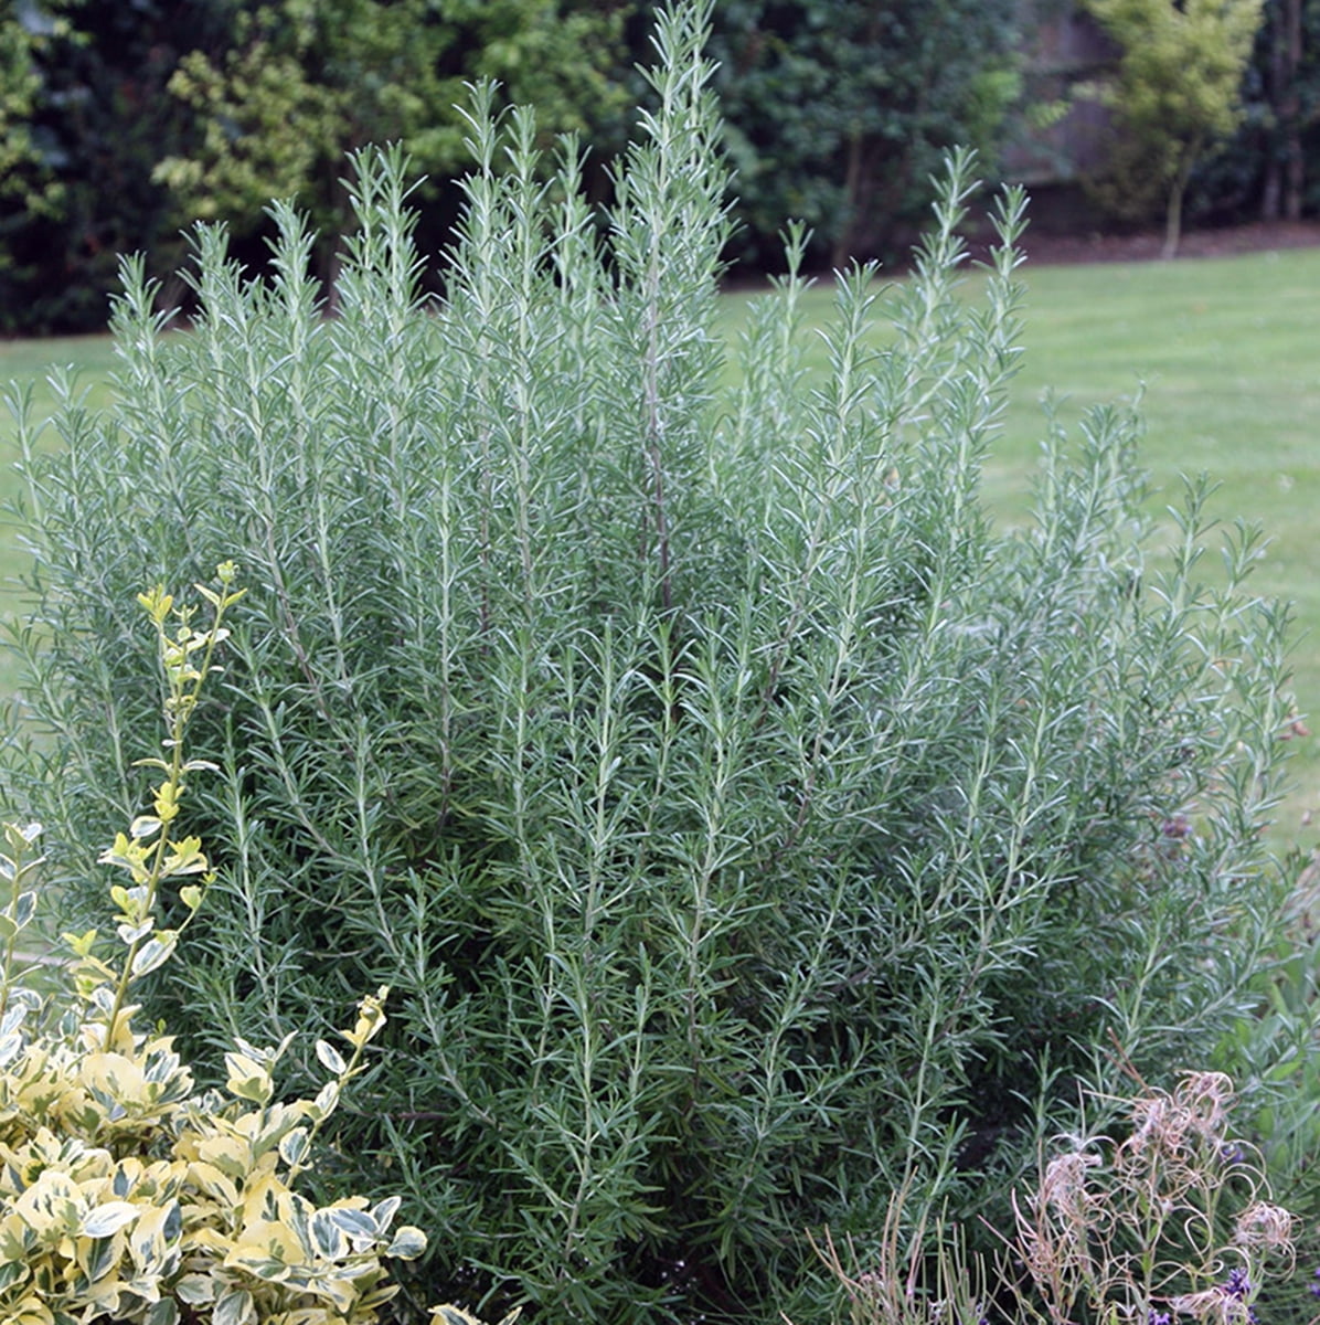
[[[1263,595],[1296,604],[1295,689],[1320,716],[1320,249],[1176,264],[1023,269],[1029,285],[1026,358],[1005,435],[985,474],[996,515],[1021,518],[1042,436],[1039,400],[1066,398],[1072,421],[1083,405],[1131,396],[1147,384],[1145,464],[1152,511],[1174,500],[1181,474],[1209,473],[1222,486],[1214,510],[1230,522],[1259,521],[1271,543],[1256,574]],[[974,282],[973,282],[974,284]],[[730,322],[744,295],[728,297]],[[810,295],[824,315],[829,290]],[[40,378],[73,363],[105,399],[113,366],[105,338],[0,343],[0,380]],[[49,390],[38,404],[49,405]],[[0,419],[0,460],[12,427]],[[3,496],[3,492],[0,492]],[[0,578],[21,564],[12,534],[0,541]],[[13,684],[0,660],[0,689]],[[1316,723],[1320,730],[1320,721]],[[1279,844],[1311,849],[1320,836],[1320,737],[1295,743],[1296,788],[1280,815]],[[1317,825],[1308,827],[1315,814]]]

